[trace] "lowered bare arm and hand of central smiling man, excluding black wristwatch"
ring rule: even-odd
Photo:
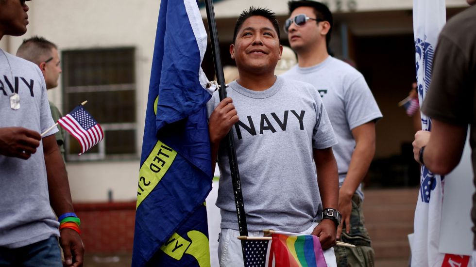
[[[314,149],[314,161],[316,162],[317,183],[321,193],[323,208],[337,209],[339,175],[332,148]],[[336,225],[332,220],[322,220],[314,228],[312,234],[319,237],[324,250],[336,244]]]

